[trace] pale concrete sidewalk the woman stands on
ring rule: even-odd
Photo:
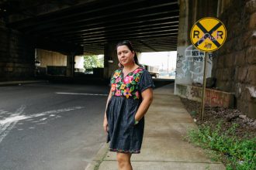
[[[226,169],[211,162],[201,148],[183,137],[188,128],[196,128],[171,85],[154,90],[154,101],[145,116],[144,141],[139,155],[132,155],[134,170]],[[86,170],[116,170],[116,153],[103,145]]]

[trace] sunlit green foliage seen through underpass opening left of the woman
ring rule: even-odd
[[[104,57],[98,57],[96,55],[92,55],[92,56],[84,56],[84,58],[85,58],[85,62],[84,62],[85,70],[104,67]]]

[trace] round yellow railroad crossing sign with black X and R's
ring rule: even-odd
[[[219,19],[206,17],[195,22],[190,32],[192,45],[196,49],[213,52],[223,45],[227,29]]]

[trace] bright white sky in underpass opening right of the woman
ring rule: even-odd
[[[169,70],[171,70],[171,68],[175,69],[176,67],[176,57],[176,51],[141,53],[141,56],[139,57],[139,62],[141,64],[146,64],[149,66],[159,66],[159,69],[164,70],[169,67]]]

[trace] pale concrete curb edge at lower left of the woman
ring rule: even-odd
[[[102,147],[99,149],[97,154],[94,158],[92,158],[92,162],[90,162],[86,167],[85,170],[98,170],[99,166],[103,162],[103,159],[106,157],[109,151],[109,145],[107,143],[103,144]]]

